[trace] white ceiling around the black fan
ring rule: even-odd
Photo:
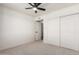
[[[46,11],[38,10],[37,14],[35,14],[34,10],[32,10],[32,9],[28,9],[28,10],[25,9],[27,7],[31,7],[28,3],[5,3],[3,5],[36,17],[36,16],[40,16],[42,14],[46,14],[46,13],[53,12],[53,11],[56,11],[56,10],[59,10],[59,9],[65,8],[65,7],[72,6],[75,4],[76,3],[43,3],[39,7],[45,8]]]

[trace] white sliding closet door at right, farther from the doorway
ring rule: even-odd
[[[79,16],[70,15],[66,17],[61,17],[60,21],[61,21],[61,46],[78,50],[79,28],[77,29],[77,27],[79,27],[79,25],[78,26],[76,25],[79,23]],[[76,37],[76,35],[78,38]]]

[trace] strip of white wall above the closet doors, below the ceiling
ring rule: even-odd
[[[65,16],[65,15],[69,15],[69,14],[74,14],[74,13],[79,13],[79,4],[70,6],[70,7],[66,7],[66,8],[62,8],[59,9],[57,11],[53,11],[51,13],[45,14],[45,15],[41,15],[38,16],[37,18],[43,18],[45,20],[50,20],[52,18],[56,18],[59,16]]]

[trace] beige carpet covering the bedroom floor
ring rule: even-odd
[[[35,41],[29,44],[6,49],[1,51],[0,55],[79,55],[79,52],[45,44],[42,41]]]

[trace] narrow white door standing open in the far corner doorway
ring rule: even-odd
[[[35,22],[35,40],[41,40],[41,23]]]

